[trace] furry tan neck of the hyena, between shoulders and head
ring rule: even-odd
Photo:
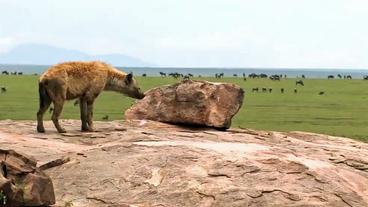
[[[106,85],[104,90],[107,91],[115,91],[119,93],[123,93],[125,89],[125,79],[126,73],[121,72],[117,69],[110,69],[108,71]]]

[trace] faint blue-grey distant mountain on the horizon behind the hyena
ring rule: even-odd
[[[152,67],[138,58],[122,54],[89,55],[78,50],[69,50],[42,44],[23,44],[0,53],[0,64],[53,65],[64,61],[105,61],[114,66]]]

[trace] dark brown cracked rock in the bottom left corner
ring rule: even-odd
[[[0,149],[0,206],[42,206],[55,203],[51,178],[33,158]]]

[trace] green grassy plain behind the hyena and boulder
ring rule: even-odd
[[[137,77],[143,90],[175,83],[173,78]],[[218,81],[214,78],[203,78]],[[243,107],[233,118],[233,127],[277,131],[309,131],[368,141],[368,81],[312,80],[298,86],[295,79],[224,78],[222,82],[236,83],[246,91]],[[0,94],[0,119],[35,120],[38,109],[36,76],[0,76],[0,86],[7,92]],[[272,93],[252,93],[253,87],[273,88]],[[281,94],[280,89],[285,88]],[[325,91],[325,95],[318,95]],[[103,92],[96,100],[94,119],[123,119],[133,99],[113,92]],[[46,119],[50,114],[46,114]],[[62,114],[64,119],[79,119],[79,107],[68,102]]]

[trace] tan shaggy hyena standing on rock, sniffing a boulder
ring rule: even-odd
[[[93,131],[93,102],[103,90],[116,91],[142,99],[144,94],[131,73],[127,74],[103,62],[65,62],[49,68],[39,79],[40,108],[37,131],[45,132],[43,114],[51,102],[51,116],[57,131],[65,133],[59,116],[66,100],[79,99],[82,131]]]

